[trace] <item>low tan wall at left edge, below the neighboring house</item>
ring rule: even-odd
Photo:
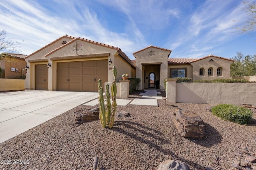
[[[25,80],[0,78],[0,91],[25,90]]]

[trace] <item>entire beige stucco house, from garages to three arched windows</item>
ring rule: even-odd
[[[98,79],[112,82],[112,66],[122,74],[141,79],[139,89],[164,89],[168,77],[197,79],[230,78],[234,60],[209,55],[200,59],[171,59],[172,51],[150,45],[133,53],[130,60],[111,45],[64,35],[28,55],[26,90],[98,91]]]

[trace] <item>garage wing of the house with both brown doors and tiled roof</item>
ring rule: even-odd
[[[64,35],[25,58],[25,89],[97,92],[98,79],[112,82],[135,76],[135,65],[118,47]]]

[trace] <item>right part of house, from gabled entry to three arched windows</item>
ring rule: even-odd
[[[136,60],[136,77],[141,79],[140,89],[164,89],[164,79],[168,77],[190,77],[193,80],[230,78],[232,59],[209,55],[200,59],[169,59],[172,51],[150,45],[133,53]]]

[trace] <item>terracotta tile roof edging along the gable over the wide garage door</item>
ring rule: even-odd
[[[130,63],[130,64],[131,64],[132,66],[134,66],[134,68],[135,68],[135,64],[132,63],[132,61],[129,59],[129,57],[128,57],[126,54],[124,54],[124,52],[123,52],[120,48],[114,47],[114,46],[112,46],[112,45],[104,44],[104,43],[99,43],[99,42],[97,42],[97,41],[92,41],[92,40],[90,40],[90,39],[81,38],[81,37],[72,39],[72,40],[69,41],[68,43],[66,43],[66,44],[64,44],[64,45],[62,45],[62,46],[60,46],[60,47],[54,49],[54,50],[51,51],[50,53],[46,54],[45,57],[51,55],[52,53],[58,51],[59,49],[62,49],[63,47],[65,47],[65,46],[69,45],[70,43],[73,43],[74,41],[77,41],[77,40],[85,41],[85,42],[87,42],[87,43],[92,43],[92,44],[95,44],[95,45],[100,45],[100,46],[107,47],[107,48],[110,48],[110,49],[116,49],[117,52],[118,52],[126,61],[128,61],[128,63]]]

